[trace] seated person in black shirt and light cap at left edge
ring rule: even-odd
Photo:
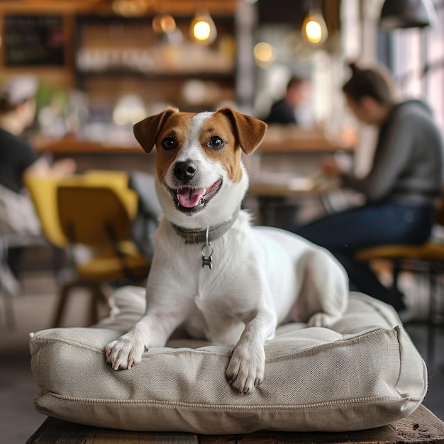
[[[23,138],[23,131],[35,118],[37,90],[38,80],[27,74],[13,77],[0,88],[0,234],[40,234],[40,223],[24,186],[26,174],[71,174],[76,169],[72,159],[50,165]],[[9,250],[14,273],[20,253],[18,248]]]

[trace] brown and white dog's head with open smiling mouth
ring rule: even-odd
[[[267,124],[229,107],[183,113],[167,108],[134,126],[145,152],[157,150],[156,189],[165,216],[179,226],[231,218],[248,188],[241,154],[252,153]]]

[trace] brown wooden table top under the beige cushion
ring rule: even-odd
[[[419,406],[410,416],[389,426],[343,433],[292,433],[258,431],[247,435],[196,435],[120,431],[48,418],[26,444],[111,444],[111,443],[189,443],[189,444],[389,444],[444,443],[444,423],[426,407]]]

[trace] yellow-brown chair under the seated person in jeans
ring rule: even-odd
[[[438,201],[436,226],[444,229],[444,196]],[[428,338],[427,356],[430,363],[434,360],[435,328],[440,321],[440,284],[439,277],[444,274],[444,242],[431,238],[423,245],[382,245],[366,248],[357,252],[358,260],[372,262],[388,260],[393,265],[393,283],[398,288],[398,277],[401,271],[423,274],[428,278]]]

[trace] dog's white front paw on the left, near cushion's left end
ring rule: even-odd
[[[113,370],[125,370],[142,362],[142,354],[145,346],[140,341],[133,338],[133,335],[126,334],[113,340],[105,347],[107,364]]]

